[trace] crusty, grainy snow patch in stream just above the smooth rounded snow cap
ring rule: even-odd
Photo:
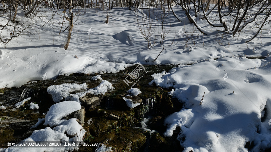
[[[86,83],[83,84],[60,84],[52,85],[47,88],[47,92],[52,95],[55,103],[60,102],[62,99],[66,98],[70,92],[76,90],[86,90]]]

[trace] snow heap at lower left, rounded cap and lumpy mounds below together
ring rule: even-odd
[[[71,118],[69,120],[62,119],[64,116],[68,114],[80,110],[81,105],[75,101],[64,101],[59,102],[52,105],[49,108],[48,113],[46,114],[45,118],[38,119],[38,122],[31,128],[36,128],[43,121],[45,121],[44,125],[50,125],[50,127],[55,126],[54,128],[46,127],[45,129],[35,130],[30,137],[24,139],[21,142],[26,141],[53,141],[53,142],[80,142],[83,141],[83,136],[85,135],[86,131],[83,129],[77,121],[76,118]],[[63,143],[62,143],[63,144]],[[78,150],[78,147],[67,147],[67,146],[60,146],[60,147],[17,147],[11,146],[5,151],[73,151]]]

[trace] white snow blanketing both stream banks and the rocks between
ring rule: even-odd
[[[181,8],[173,9],[179,17],[185,17]],[[164,88],[173,87],[171,95],[185,103],[184,109],[165,119],[165,136],[171,136],[176,127],[181,127],[178,139],[187,152],[248,151],[244,147],[248,141],[254,142],[251,151],[271,147],[271,126],[268,121],[271,119],[271,57],[246,58],[271,54],[271,34],[268,32],[270,25],[264,26],[261,38],[258,36],[245,44],[241,43],[241,39],[254,34],[253,24],[246,27],[246,32],[232,37],[216,33],[215,28],[207,26],[205,20],[198,18],[197,23],[201,27],[213,31],[203,37],[187,19],[179,22],[171,14],[171,28],[164,45],[160,47],[160,44],[157,44],[149,50],[135,22],[140,13],[129,11],[129,8],[114,8],[108,11],[108,14],[109,23],[105,24],[106,13],[83,9],[77,20],[78,24],[74,25],[67,50],[61,48],[67,31],[58,36],[57,28],[61,25],[43,26],[44,22],[40,18],[34,18],[37,20],[35,35],[17,37],[1,47],[0,88],[20,87],[28,81],[53,79],[58,75],[73,72],[116,73],[134,63],[180,64],[168,73],[164,71],[153,74],[154,80],[150,82]],[[51,18],[48,12],[46,15],[48,17],[44,20]],[[157,28],[160,27],[157,23]],[[158,31],[156,35],[159,36]],[[187,40],[192,34],[198,36]],[[165,49],[158,56],[163,47]],[[189,63],[195,64],[186,65]],[[90,91],[96,90],[95,93],[98,94],[99,88],[104,88],[104,91],[112,89],[108,81],[103,82],[100,87]],[[73,89],[86,89],[84,84],[75,88],[65,85],[67,84],[51,86],[55,87],[51,91],[51,88],[48,88],[49,92],[55,94],[55,102],[68,96]],[[62,94],[59,94],[56,88],[62,89]],[[65,102],[77,104],[77,110],[81,108],[78,102]],[[61,103],[63,102],[57,104]],[[23,102],[18,106],[21,104]],[[58,107],[57,104],[55,108]],[[266,109],[263,110],[264,108]],[[48,133],[51,139],[55,139],[52,132],[59,133],[64,140],[70,140],[65,136],[65,131],[73,136],[78,135],[77,138],[74,137],[78,141],[82,140],[84,130],[76,121],[61,120],[53,110],[49,110],[47,115],[45,124],[51,126],[54,122],[53,125],[59,126],[36,130],[35,134],[26,140],[36,140],[36,135],[43,133]],[[261,120],[264,115],[265,120]],[[74,128],[75,132],[68,130],[70,125],[77,126]],[[181,140],[183,137],[185,139]],[[105,147],[100,147],[103,148]]]

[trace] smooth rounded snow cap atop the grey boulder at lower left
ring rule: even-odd
[[[57,126],[64,121],[62,118],[81,109],[81,105],[75,101],[64,101],[52,105],[45,116],[43,125]]]

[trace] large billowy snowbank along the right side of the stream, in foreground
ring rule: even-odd
[[[175,88],[170,94],[185,105],[165,118],[164,135],[171,136],[181,127],[178,139],[185,138],[180,144],[187,152],[248,151],[244,147],[248,141],[254,142],[252,151],[270,147],[271,115],[261,121],[263,109],[271,110],[271,65],[262,67],[267,62],[224,57],[153,74],[150,84]],[[229,71],[217,71],[221,64]],[[250,69],[255,65],[259,68]],[[200,105],[204,92],[204,104]]]

